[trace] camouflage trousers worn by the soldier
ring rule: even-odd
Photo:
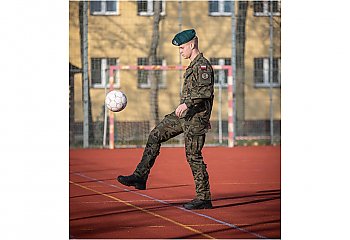
[[[193,122],[186,122],[183,118],[178,118],[175,115],[175,112],[166,115],[165,118],[151,131],[142,159],[137,165],[134,174],[147,180],[150,170],[160,153],[161,143],[184,133],[186,159],[192,170],[197,198],[210,200],[209,175],[206,170],[207,166],[202,157],[205,132],[194,132],[192,124]],[[181,174],[179,174],[179,176],[181,176]]]

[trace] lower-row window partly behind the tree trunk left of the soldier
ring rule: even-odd
[[[137,64],[139,66],[149,65],[148,58],[138,58]],[[157,58],[156,64],[158,66],[166,66],[166,61],[163,58]],[[156,70],[155,76],[158,78],[158,87],[165,88],[166,71]],[[139,88],[150,88],[151,81],[149,79],[149,70],[138,70],[137,71],[137,85]]]

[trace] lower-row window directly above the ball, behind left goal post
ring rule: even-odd
[[[109,66],[118,65],[117,58],[91,58],[91,87],[109,87]],[[114,87],[119,87],[119,71],[115,71]]]

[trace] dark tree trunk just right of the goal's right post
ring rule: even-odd
[[[238,1],[236,26],[236,117],[237,133],[242,134],[244,124],[244,79],[245,79],[245,26],[248,1]]]

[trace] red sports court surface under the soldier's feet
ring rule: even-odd
[[[143,149],[70,150],[71,239],[281,237],[281,148],[206,147],[213,209],[189,211],[195,197],[184,148],[162,148],[147,189],[115,180],[129,175]]]

